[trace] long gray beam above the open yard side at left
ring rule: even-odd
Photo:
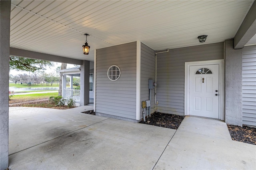
[[[58,55],[38,53],[38,52],[34,52],[34,51],[28,51],[28,50],[12,48],[12,47],[10,47],[10,55],[26,57],[26,58],[33,58],[33,59],[42,59],[42,60],[59,62],[59,63],[82,65],[82,60],[80,60],[80,59],[72,59],[72,58],[67,58],[67,57],[61,57]]]

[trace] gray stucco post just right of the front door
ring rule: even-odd
[[[242,126],[242,49],[225,41],[225,122]]]

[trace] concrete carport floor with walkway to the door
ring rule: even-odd
[[[226,123],[185,117],[178,130],[68,110],[10,107],[9,168],[256,169],[256,146]]]

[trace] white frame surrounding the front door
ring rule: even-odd
[[[185,116],[189,115],[189,67],[192,65],[219,64],[219,119],[224,121],[224,59],[185,62]]]

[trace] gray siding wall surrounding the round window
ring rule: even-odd
[[[136,47],[132,42],[97,49],[96,113],[136,119]],[[107,76],[112,65],[121,71],[117,81]]]

